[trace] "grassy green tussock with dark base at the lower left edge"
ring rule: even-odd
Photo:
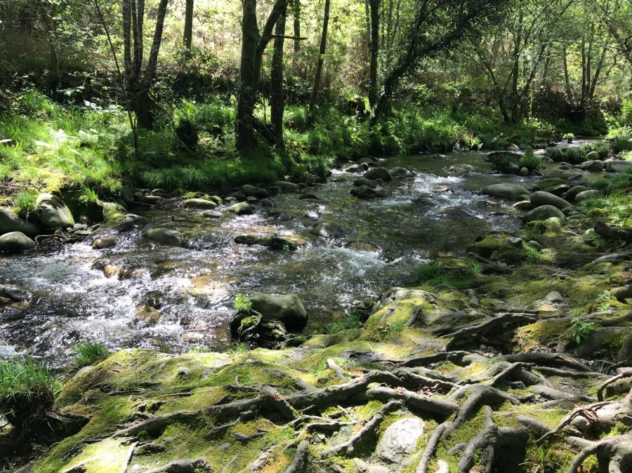
[[[61,384],[32,359],[0,361],[0,414],[20,434],[34,432],[53,412]]]

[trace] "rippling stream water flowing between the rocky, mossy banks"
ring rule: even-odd
[[[380,165],[411,168],[416,174],[383,186],[388,195],[381,199],[350,196],[359,176],[334,171],[327,183],[307,189],[322,204],[279,194],[273,197],[277,208],[272,212],[256,206],[255,215],[223,212],[218,220],[192,209],[136,208],[133,212],[146,220],[119,232],[115,248],[93,250],[91,237],[54,250],[0,255],[0,284],[33,293],[25,309],[0,309],[0,345],[4,352],[15,349],[53,364],[65,363],[71,347],[84,340],[110,349],[221,349],[228,344],[237,293],[295,293],[308,310],[307,333],[322,331],[355,300],[414,284],[414,269],[427,258],[462,253],[480,234],[519,227],[509,202],[490,201],[473,191],[531,178],[492,175],[484,156],[466,152],[442,159],[388,159]],[[463,163],[476,171],[449,173],[450,166]],[[305,216],[308,211],[319,220]],[[341,236],[310,234],[317,221],[337,225]],[[151,227],[177,229],[187,248],[143,239]],[[235,244],[239,234],[277,234],[300,245],[296,252],[270,251]],[[106,277],[106,266],[122,276]]]

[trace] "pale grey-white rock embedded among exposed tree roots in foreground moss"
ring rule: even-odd
[[[423,435],[423,420],[407,418],[388,426],[378,442],[379,458],[400,465],[417,449],[417,440]]]

